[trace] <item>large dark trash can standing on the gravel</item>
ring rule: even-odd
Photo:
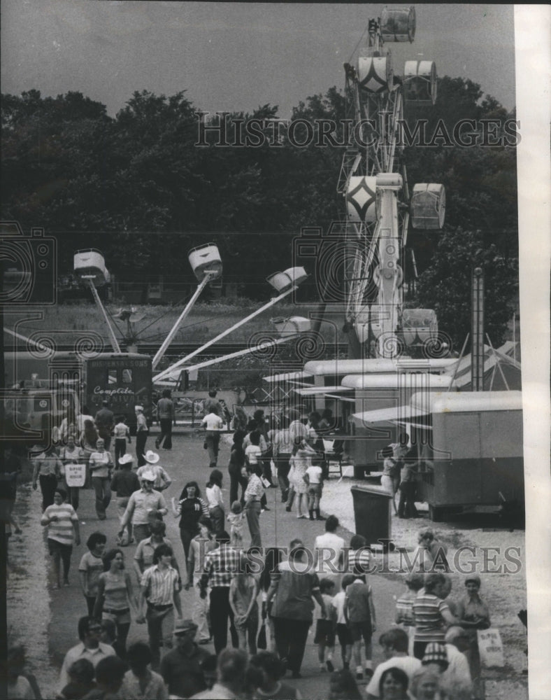
[[[392,496],[380,486],[352,486],[350,491],[354,501],[356,534],[366,538],[368,547],[382,545],[383,551],[386,552],[391,537]]]

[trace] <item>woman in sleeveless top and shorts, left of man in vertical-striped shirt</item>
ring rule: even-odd
[[[113,646],[117,655],[124,659],[131,622],[130,608],[138,615],[138,601],[132,589],[130,574],[124,570],[124,554],[121,549],[110,549],[107,552],[103,557],[103,570],[98,581],[94,617],[115,622],[117,640]]]

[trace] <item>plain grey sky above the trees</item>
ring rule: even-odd
[[[406,6],[406,3],[403,3]],[[2,0],[1,89],[78,90],[115,115],[134,90],[187,90],[206,111],[269,102],[288,118],[344,85],[343,63],[382,4]],[[415,5],[415,42],[387,44],[394,70],[434,59],[515,105],[512,5]]]

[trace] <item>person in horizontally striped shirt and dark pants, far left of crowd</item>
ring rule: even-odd
[[[63,562],[63,585],[69,586],[69,566],[73,543],[80,545],[80,530],[78,515],[69,503],[65,503],[66,492],[56,489],[53,505],[48,505],[43,512],[41,525],[48,526],[48,549],[53,557],[54,584],[52,588],[59,589],[59,563]]]

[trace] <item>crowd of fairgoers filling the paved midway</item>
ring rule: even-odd
[[[260,409],[252,419],[236,412],[229,512],[217,468],[227,416],[216,392],[210,392],[203,418],[210,467],[204,496],[199,484],[189,481],[178,499],[166,503],[163,491],[171,477],[159,465],[159,454],[146,449],[149,430],[140,406],[136,416],[135,460],[127,451],[131,437],[124,419],[107,402],[95,416],[86,407],[78,416],[66,416],[52,444],[33,460],[54,589],[69,586],[73,545],[80,545],[76,511],[83,486],[94,489],[99,521],[78,565],[87,615],[75,619],[80,643],[65,654],[57,698],[300,698],[293,679],[301,678],[314,617],[314,642],[320,671],[329,671],[330,698],[484,697],[478,631],[488,629],[490,619],[479,595],[480,577],[466,575],[464,594],[451,600],[447,549],[430,530],[419,533],[421,556],[404,579],[403,595],[387,603],[396,608],[395,624],[378,630],[386,660],[373,667],[380,603],[374,603],[369,582],[371,550],[362,535],[345,542],[336,533],[337,517],[320,512],[327,477],[322,435],[332,427],[330,411],[307,420],[293,409],[270,419]],[[166,391],[157,405],[155,449],[171,449],[173,418]],[[399,514],[415,518],[410,486],[415,463],[407,442],[404,435],[383,450],[382,486],[394,494],[401,482]],[[7,450],[8,535],[10,528],[18,530],[12,513],[18,462]],[[76,465],[82,466],[82,482]],[[270,488],[280,489],[285,510],[295,507],[297,519],[324,522],[313,546],[296,537],[287,548],[263,547],[259,517],[269,510],[265,491]],[[117,546],[106,550],[101,521],[112,494],[120,530]],[[179,518],[185,570],[166,541],[169,507]],[[131,545],[129,570],[124,548]],[[182,589],[193,591],[192,617],[183,615]],[[127,645],[133,619],[144,625],[143,640]],[[206,645],[213,645],[214,653]],[[6,697],[41,697],[39,679],[25,673],[24,647],[10,647],[3,675]]]

